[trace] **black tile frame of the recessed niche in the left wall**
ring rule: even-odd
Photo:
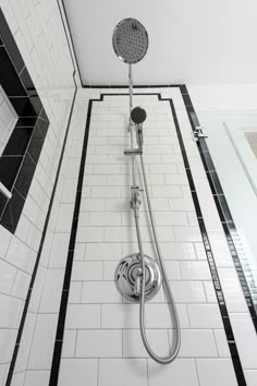
[[[0,9],[0,84],[19,120],[0,157],[0,225],[14,233],[47,135],[49,121]]]

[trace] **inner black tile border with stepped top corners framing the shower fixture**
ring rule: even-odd
[[[63,282],[61,303],[60,303],[60,310],[59,310],[59,318],[58,318],[58,325],[57,325],[57,334],[56,334],[56,341],[54,341],[49,386],[56,386],[58,384],[58,377],[59,377],[59,371],[60,371],[60,364],[61,364],[61,352],[62,352],[62,345],[63,345],[63,337],[64,337],[66,307],[68,307],[69,290],[70,290],[70,282],[71,282],[72,265],[73,265],[73,258],[74,258],[75,238],[76,238],[79,206],[81,206],[81,198],[82,198],[83,179],[84,179],[84,171],[85,171],[85,165],[86,165],[86,153],[87,153],[87,143],[88,143],[88,135],[89,135],[89,125],[90,125],[93,104],[94,104],[94,101],[102,101],[106,96],[127,96],[127,95],[128,94],[117,94],[117,93],[115,94],[100,94],[99,99],[89,99],[89,101],[88,101],[87,120],[86,120],[86,128],[85,128],[85,134],[84,134],[84,140],[83,140],[83,153],[82,153],[81,165],[79,165],[75,207],[74,207],[74,212],[73,212],[72,230],[71,230],[69,252],[68,252],[68,257],[66,257],[64,282]],[[184,167],[185,167],[187,180],[188,180],[189,188],[191,188],[191,194],[194,200],[195,210],[196,210],[199,229],[200,229],[201,237],[203,237],[206,256],[208,260],[210,274],[211,274],[211,278],[212,278],[212,282],[213,282],[213,287],[215,287],[215,291],[216,291],[216,295],[217,295],[217,300],[218,300],[218,304],[219,304],[219,309],[220,309],[220,313],[221,313],[221,318],[223,322],[224,331],[227,335],[227,340],[228,340],[228,345],[229,345],[230,352],[231,352],[231,359],[232,359],[232,363],[234,366],[235,376],[236,376],[236,379],[237,379],[237,383],[240,386],[246,386],[243,367],[241,364],[236,342],[234,340],[234,335],[233,335],[232,326],[230,323],[230,316],[229,316],[228,309],[225,305],[225,300],[224,300],[221,284],[219,280],[218,270],[216,267],[215,258],[212,255],[211,246],[210,246],[208,234],[206,231],[205,221],[204,221],[203,214],[200,210],[199,201],[198,201],[197,192],[195,190],[194,180],[192,177],[192,172],[191,172],[191,168],[189,168],[189,164],[188,164],[188,159],[187,159],[187,155],[186,155],[184,142],[182,138],[180,124],[179,124],[179,121],[176,118],[173,101],[171,98],[163,98],[162,99],[161,94],[159,94],[159,93],[144,93],[144,94],[135,93],[134,95],[154,95],[154,96],[158,97],[158,100],[162,100],[162,101],[166,100],[166,101],[170,102],[170,107],[171,107],[171,111],[172,111],[172,116],[173,116],[173,120],[174,120],[174,124],[175,124],[176,135],[179,138],[179,143],[180,143],[180,147],[181,147],[181,152],[182,152],[182,156],[183,156]]]

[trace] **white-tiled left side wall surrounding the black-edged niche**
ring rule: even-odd
[[[0,227],[0,384],[3,385],[52,193],[74,82],[57,1],[1,0],[0,5],[50,120],[16,231],[12,234]],[[56,214],[59,198],[57,194]],[[49,244],[54,224],[50,224]],[[38,270],[42,281],[44,263],[39,263]]]

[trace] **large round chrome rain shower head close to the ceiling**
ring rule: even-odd
[[[124,19],[114,28],[112,45],[119,59],[127,64],[139,62],[148,49],[148,35],[136,19]]]

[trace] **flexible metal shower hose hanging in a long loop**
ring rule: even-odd
[[[143,250],[143,243],[142,243],[142,238],[140,238],[140,228],[139,228],[139,212],[138,209],[134,209],[134,217],[135,217],[135,225],[136,225],[136,233],[137,233],[137,240],[138,240],[138,248],[139,248],[139,254],[140,254],[140,265],[142,265],[142,286],[140,286],[140,305],[139,305],[139,325],[140,325],[140,336],[143,343],[145,346],[146,351],[148,354],[158,363],[160,364],[168,364],[171,363],[178,355],[179,350],[180,350],[180,345],[181,345],[181,329],[180,329],[180,321],[179,321],[179,315],[176,311],[176,306],[174,303],[174,299],[171,292],[170,284],[168,280],[168,275],[166,272],[164,263],[162,260],[161,251],[160,251],[160,245],[156,232],[156,226],[155,226],[155,220],[152,216],[152,209],[151,209],[151,203],[150,203],[150,196],[149,196],[149,191],[148,191],[148,184],[147,184],[147,179],[146,179],[146,171],[145,171],[145,165],[144,165],[144,159],[143,155],[140,155],[140,167],[142,167],[142,173],[143,173],[143,179],[144,179],[144,185],[145,185],[145,192],[146,192],[146,198],[147,198],[147,206],[148,206],[148,212],[149,212],[149,217],[150,217],[150,224],[151,224],[151,229],[152,229],[152,234],[154,234],[154,240],[156,244],[156,250],[157,250],[157,255],[159,260],[159,265],[162,274],[162,285],[164,289],[164,294],[167,295],[168,300],[168,306],[170,310],[171,318],[172,318],[172,310],[174,314],[174,322],[175,322],[175,330],[176,330],[176,340],[175,340],[175,346],[173,351],[169,357],[158,357],[150,348],[149,342],[147,340],[146,336],[146,326],[145,326],[145,280],[146,280],[146,274],[145,274],[145,257],[144,257],[144,250]]]

